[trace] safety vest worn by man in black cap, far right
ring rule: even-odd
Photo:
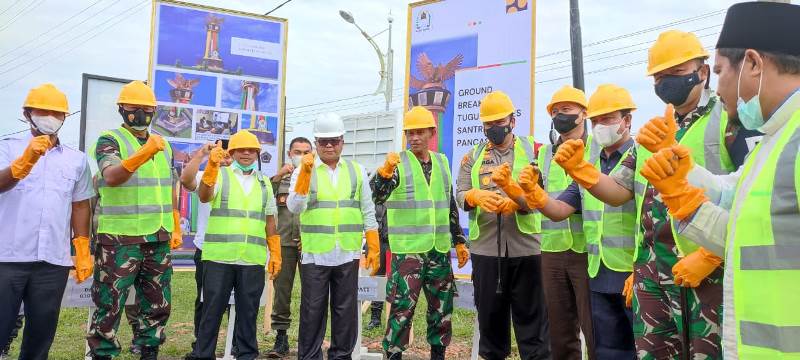
[[[769,154],[758,144],[744,164],[729,219],[733,299],[741,359],[800,359],[800,111]],[[761,155],[761,156],[759,156]],[[758,158],[766,162],[751,172]],[[755,178],[739,197],[746,178]],[[726,315],[727,316],[727,315]]]

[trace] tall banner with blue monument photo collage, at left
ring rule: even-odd
[[[207,141],[246,129],[261,143],[261,172],[277,172],[286,31],[284,19],[153,3],[148,74],[158,107],[151,131],[172,144],[176,161],[188,160]]]

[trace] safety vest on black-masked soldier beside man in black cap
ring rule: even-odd
[[[683,134],[683,137],[678,140],[678,143],[684,145],[692,150],[692,160],[696,164],[708,169],[715,175],[729,174],[733,171],[733,161],[728,154],[728,148],[725,146],[725,129],[728,127],[728,116],[723,111],[722,102],[717,102],[712,110],[697,119]],[[647,179],[640,174],[641,169],[644,167],[644,162],[653,156],[652,153],[647,151],[642,146],[636,148],[636,171],[634,177],[634,195],[636,197],[636,252],[634,259],[638,255],[638,245],[644,239],[644,232],[641,229],[642,221],[642,204],[644,202],[644,194],[647,187],[650,186]],[[699,247],[693,241],[688,240],[682,236],[677,236],[675,231],[675,221],[672,223],[672,236],[675,239],[675,244],[681,254],[688,255],[693,253]]]

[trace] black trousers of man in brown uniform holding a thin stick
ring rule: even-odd
[[[497,293],[494,256],[472,255],[472,283],[481,333],[478,353],[488,360],[511,353],[511,325],[520,358],[550,359],[541,255],[500,258],[501,293]]]

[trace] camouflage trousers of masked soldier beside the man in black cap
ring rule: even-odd
[[[633,334],[639,359],[680,359],[681,288],[651,263],[634,266]],[[671,274],[670,274],[671,275]],[[722,269],[687,288],[689,359],[722,359]]]

